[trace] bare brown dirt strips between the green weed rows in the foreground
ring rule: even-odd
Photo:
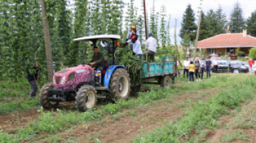
[[[227,79],[229,78],[235,78],[235,76],[230,74]],[[165,126],[166,122],[179,122],[192,104],[208,102],[213,96],[225,91],[230,86],[223,82],[220,83],[223,86],[205,87],[208,84],[203,85],[204,82],[207,82],[205,79],[201,83],[196,83],[201,84],[202,87],[188,90],[189,84],[194,83],[188,83],[183,78],[180,79],[172,86],[177,93],[170,94],[168,98],[152,101],[149,104],[137,104],[136,107],[121,109],[116,113],[104,113],[100,120],[93,122],[67,123],[66,126],[54,133],[39,131],[37,135],[21,140],[21,142],[134,142],[138,135],[147,135],[149,132]],[[144,88],[149,89],[148,87]],[[132,98],[136,100],[138,97],[133,96]],[[5,100],[0,101],[4,102]],[[102,109],[107,104],[98,104],[97,109]],[[256,142],[256,100],[253,98],[253,100],[246,100],[241,104],[241,108],[230,109],[229,115],[221,115],[217,121],[217,128],[203,129],[200,133],[192,131],[189,136],[191,138],[198,137],[200,142]],[[62,103],[58,109],[77,112],[74,102]],[[56,109],[44,109],[44,112],[58,113]],[[1,132],[19,135],[20,129],[26,129],[34,120],[40,120],[40,114],[40,108],[37,108],[0,115]],[[190,142],[189,140],[190,138],[181,138],[181,142]]]

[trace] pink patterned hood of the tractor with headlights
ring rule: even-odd
[[[53,75],[53,87],[57,89],[75,89],[79,83],[91,82],[94,76],[94,70],[89,65],[62,69]]]

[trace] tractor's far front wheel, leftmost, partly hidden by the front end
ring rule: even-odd
[[[48,100],[48,90],[53,88],[53,83],[46,83],[40,90],[39,101],[42,107],[45,109],[57,108],[59,102]]]

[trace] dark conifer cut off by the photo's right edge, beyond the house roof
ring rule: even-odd
[[[247,19],[247,32],[251,36],[256,36],[256,10],[252,12],[251,16]]]

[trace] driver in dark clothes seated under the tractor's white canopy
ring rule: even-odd
[[[101,72],[104,68],[104,56],[99,52],[98,47],[93,47],[93,53],[93,59],[91,60],[90,65],[96,69],[95,72],[96,75],[98,75],[95,84],[101,87]]]

